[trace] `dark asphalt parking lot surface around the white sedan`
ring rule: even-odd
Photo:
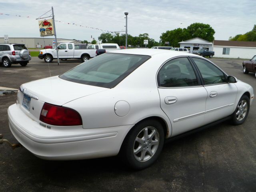
[[[237,59],[212,58],[229,75],[250,84],[256,94],[254,74],[243,74]],[[49,65],[32,58],[26,67],[0,67],[0,86],[21,84],[62,74],[80,60]],[[7,108],[16,94],[0,96],[0,134],[16,142],[8,127]],[[77,161],[41,160],[25,148],[0,145],[0,191],[84,192],[255,192],[256,191],[256,101],[240,126],[223,122],[196,134],[165,144],[160,158],[150,168],[129,170],[117,157]]]

